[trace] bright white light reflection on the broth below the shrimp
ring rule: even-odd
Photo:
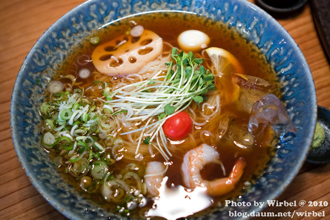
[[[168,220],[199,212],[213,204],[207,195],[207,188],[197,186],[187,191],[183,186],[168,188],[168,177],[164,177],[159,188],[159,196],[154,199],[153,208],[149,209],[146,216],[159,216]]]

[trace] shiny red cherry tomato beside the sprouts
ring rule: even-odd
[[[166,136],[173,140],[181,140],[187,136],[193,126],[189,115],[185,112],[179,112],[178,114],[168,118],[162,125],[163,131]]]

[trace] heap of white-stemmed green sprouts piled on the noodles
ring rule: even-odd
[[[161,126],[166,119],[183,111],[191,102],[201,104],[208,91],[216,90],[215,77],[205,69],[203,62],[203,59],[195,58],[193,52],[179,52],[174,47],[171,51],[171,61],[165,63],[168,67],[166,74],[158,72],[147,80],[126,85],[112,92],[105,87],[104,102],[111,105],[115,115],[116,112],[127,111],[123,120],[147,121],[144,127],[121,135],[142,130],[140,142],[143,133],[152,133],[148,143],[151,143],[156,135],[164,138]],[[156,116],[158,121],[151,122],[153,116]],[[136,153],[138,149],[139,146]],[[169,151],[168,153],[171,155]]]

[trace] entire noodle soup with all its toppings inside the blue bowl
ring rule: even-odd
[[[180,45],[197,32],[178,42],[188,30],[203,36],[193,52]],[[253,184],[276,149],[280,114],[294,131],[280,87],[256,47],[222,23],[132,16],[92,33],[49,82],[42,144],[104,209],[199,215]],[[269,121],[267,109],[277,109]]]

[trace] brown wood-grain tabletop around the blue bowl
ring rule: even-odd
[[[52,23],[82,2],[84,0],[0,0],[0,219],[66,219],[39,195],[25,176],[11,140],[9,108],[15,78],[26,54]],[[330,66],[316,33],[310,6],[278,21],[307,59],[318,104],[330,108]],[[278,200],[327,201],[329,206],[269,207],[264,211],[324,211],[325,217],[294,216],[292,219],[330,219],[330,164],[305,163]]]

